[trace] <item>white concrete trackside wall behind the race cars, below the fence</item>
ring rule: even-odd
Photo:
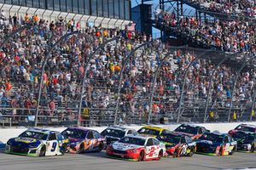
[[[242,123],[256,125],[256,122],[242,122]],[[230,129],[235,128],[239,124],[241,124],[241,122],[204,123],[204,124],[203,123],[199,123],[199,124],[195,123],[195,125],[206,127],[211,132],[218,131],[220,133],[228,133]],[[170,130],[174,130],[179,125],[180,124],[158,125],[158,127],[166,127]],[[134,125],[134,126],[124,126],[124,127],[130,127],[130,128],[134,128],[134,129],[138,130],[140,127],[143,127],[143,126]],[[46,128],[50,129],[50,130],[62,132],[66,127],[46,127]],[[102,130],[104,130],[106,127],[88,127],[88,128],[94,129],[101,133]],[[1,146],[3,147],[3,145],[8,141],[8,139],[17,137],[20,133],[24,132],[26,129],[27,129],[26,127],[0,128],[0,147]]]

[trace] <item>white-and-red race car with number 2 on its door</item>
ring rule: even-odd
[[[107,156],[130,161],[160,160],[166,153],[165,144],[144,136],[125,136],[107,147]]]

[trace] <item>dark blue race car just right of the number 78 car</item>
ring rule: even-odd
[[[195,140],[196,153],[208,156],[228,156],[233,155],[237,149],[236,141],[229,134],[204,133]]]

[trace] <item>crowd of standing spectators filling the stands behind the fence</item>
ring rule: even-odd
[[[202,22],[194,18],[177,20],[174,14],[160,13],[158,19],[167,26],[178,27],[201,41],[224,51],[254,53],[254,27],[247,23],[218,21]],[[0,51],[0,105],[3,116],[10,116],[14,122],[27,122],[35,116],[39,105],[38,122],[73,122],[84,125],[113,123],[118,116],[119,123],[147,122],[152,112],[153,119],[160,116],[177,116],[183,78],[185,78],[184,103],[193,107],[206,101],[210,77],[214,64],[209,59],[198,59],[184,77],[189,63],[195,59],[192,50],[176,49],[169,58],[164,59],[170,48],[168,42],[152,40],[151,36],[134,31],[88,27],[81,29],[75,20],[48,21],[38,15],[22,18],[0,17],[1,42],[12,32],[32,24],[31,28],[20,31],[3,44]],[[227,26],[230,29],[226,29]],[[178,29],[177,29],[178,30]],[[67,32],[79,31],[78,35],[67,37],[57,44],[48,55],[49,47]],[[232,36],[230,36],[230,34]],[[90,59],[102,42],[113,38]],[[151,42],[137,51],[143,42]],[[125,59],[131,54],[128,63]],[[43,74],[42,98],[38,101],[38,89],[42,65],[46,63]],[[85,90],[81,93],[84,65],[90,63],[86,74]],[[162,65],[160,65],[162,64]],[[156,84],[153,84],[156,68],[160,66]],[[120,80],[121,71],[123,78]],[[230,65],[220,65],[214,73],[209,105],[225,107],[230,104],[231,89],[236,71]],[[252,102],[256,71],[241,73],[236,83],[234,97],[237,102]],[[118,87],[120,95],[118,94]],[[153,85],[152,110],[150,95]],[[78,117],[79,100],[82,98],[82,116]],[[117,103],[117,100],[119,102]],[[119,110],[116,111],[117,105]],[[29,118],[28,118],[29,116]]]

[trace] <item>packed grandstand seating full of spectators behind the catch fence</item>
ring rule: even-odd
[[[130,17],[110,19],[109,10],[110,18],[102,19],[73,6],[55,11],[8,2],[0,1],[5,125],[255,119],[254,25],[247,21],[202,20],[160,8],[153,21],[165,32],[163,42],[125,29]],[[185,45],[173,46],[169,36]]]

